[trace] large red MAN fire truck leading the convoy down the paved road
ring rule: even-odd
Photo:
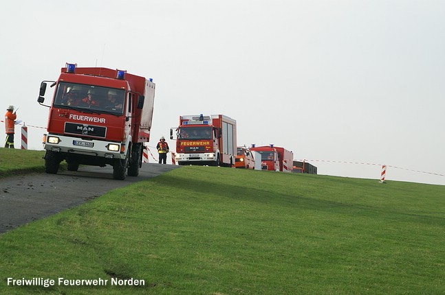
[[[61,161],[113,166],[113,178],[138,176],[150,139],[155,84],[127,71],[67,64],[57,81],[43,81],[37,101],[45,106],[47,83],[55,86],[44,137],[45,171]],[[127,172],[128,168],[128,172]]]

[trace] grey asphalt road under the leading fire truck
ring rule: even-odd
[[[81,166],[78,172],[0,178],[0,234],[33,220],[76,207],[102,194],[179,166],[143,163],[138,177],[113,180],[113,167]]]

